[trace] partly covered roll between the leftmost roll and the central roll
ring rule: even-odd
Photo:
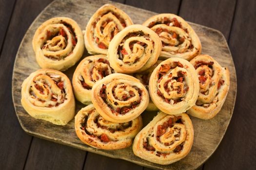
[[[106,55],[85,57],[76,68],[72,79],[76,99],[84,104],[92,103],[91,89],[93,85],[112,73],[114,73],[114,69],[110,67]]]

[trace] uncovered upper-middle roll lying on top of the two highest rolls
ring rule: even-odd
[[[112,39],[107,57],[117,72],[134,73],[153,66],[161,48],[161,41],[154,31],[142,25],[131,25]]]

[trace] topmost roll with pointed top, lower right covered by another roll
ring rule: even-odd
[[[103,5],[87,23],[84,34],[87,51],[90,54],[107,54],[113,37],[132,24],[132,19],[116,6]]]

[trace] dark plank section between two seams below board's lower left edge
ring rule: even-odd
[[[86,152],[35,137],[25,170],[81,170]]]

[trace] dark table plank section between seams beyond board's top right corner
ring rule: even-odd
[[[219,30],[228,39],[236,0],[182,0],[179,16]]]

